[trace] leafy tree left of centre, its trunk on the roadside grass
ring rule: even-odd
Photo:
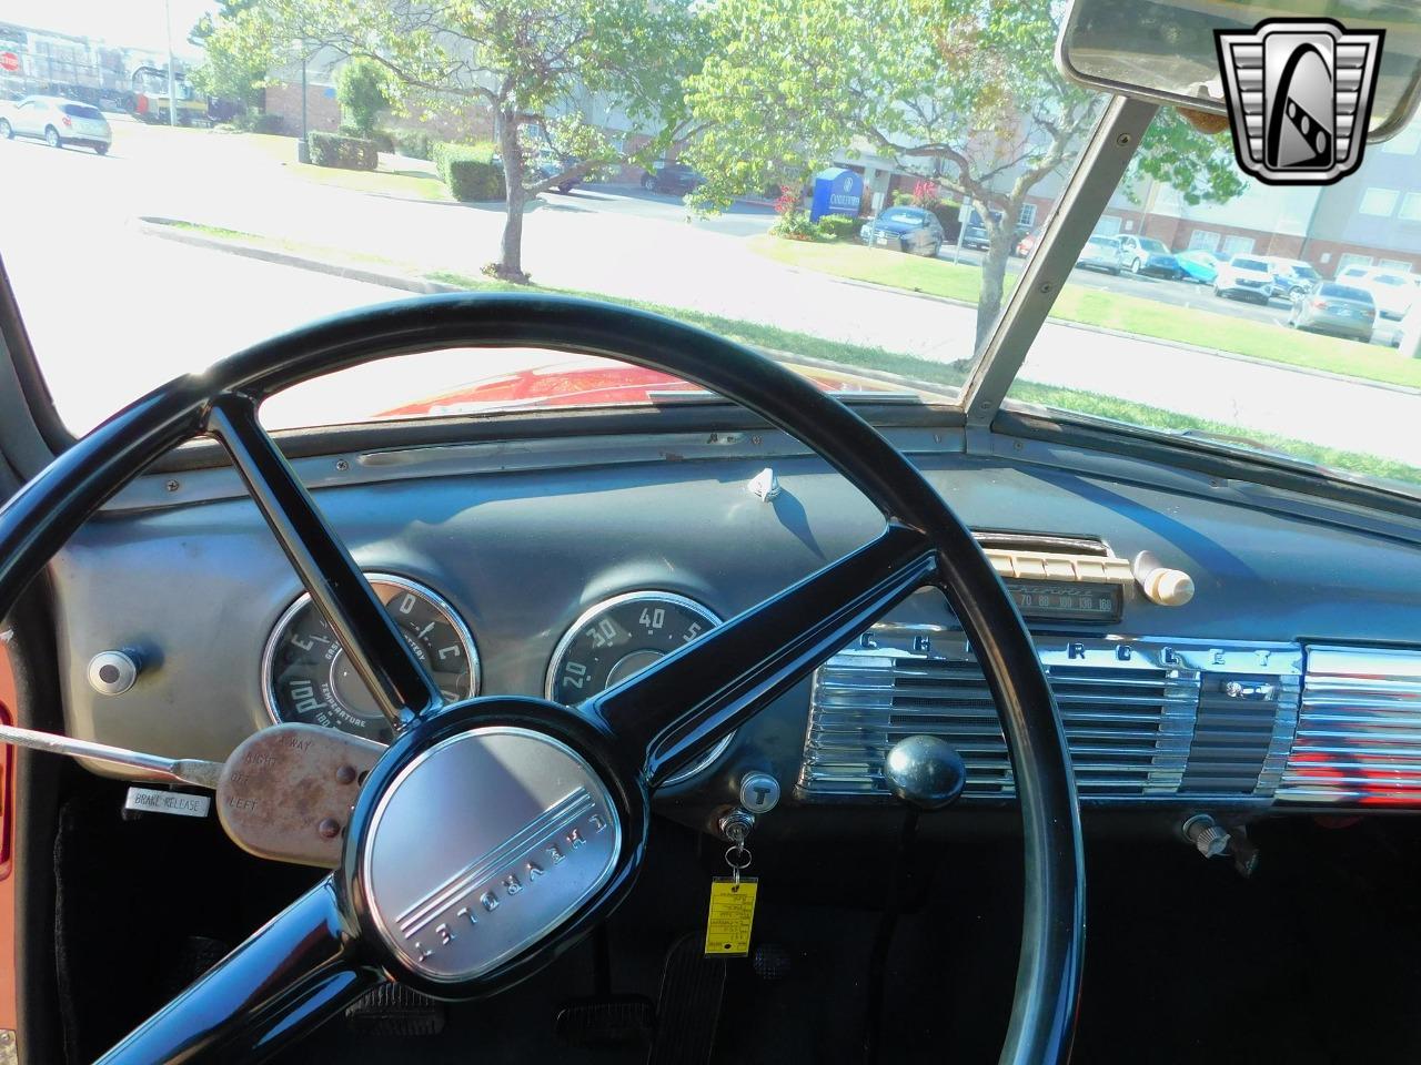
[[[631,158],[590,106],[648,125],[654,152],[699,61],[692,0],[263,0],[239,21],[243,47],[298,38],[381,64],[406,109],[492,118],[507,199],[489,270],[520,283],[529,200]]]

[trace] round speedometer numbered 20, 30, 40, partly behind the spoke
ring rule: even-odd
[[[628,592],[593,606],[567,630],[547,670],[547,697],[576,706],[635,676],[720,623],[710,611],[672,592]],[[726,736],[666,784],[679,784],[719,758]]]

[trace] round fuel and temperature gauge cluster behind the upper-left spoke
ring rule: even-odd
[[[476,694],[479,652],[453,608],[404,577],[365,577],[443,697],[452,703]],[[389,721],[310,595],[291,604],[267,638],[261,690],[274,721],[340,728],[379,743],[394,738]]]

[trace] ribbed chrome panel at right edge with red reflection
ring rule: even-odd
[[[1277,798],[1421,805],[1421,655],[1307,648],[1297,736]]]

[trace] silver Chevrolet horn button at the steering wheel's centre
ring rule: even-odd
[[[381,795],[365,902],[411,970],[473,980],[607,883],[621,838],[607,785],[570,747],[529,728],[470,728],[416,754]]]

